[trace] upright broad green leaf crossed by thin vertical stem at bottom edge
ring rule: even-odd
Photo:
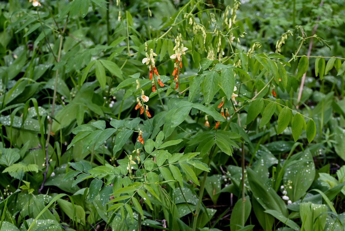
[[[237,202],[235,203],[233,212],[231,213],[231,216],[230,216],[230,230],[231,231],[236,231],[240,229],[240,227],[238,227],[237,225],[242,224],[242,206],[243,206],[242,199],[239,198]],[[245,222],[248,220],[251,210],[252,210],[252,204],[250,203],[249,196],[246,196],[245,203],[244,203]]]

